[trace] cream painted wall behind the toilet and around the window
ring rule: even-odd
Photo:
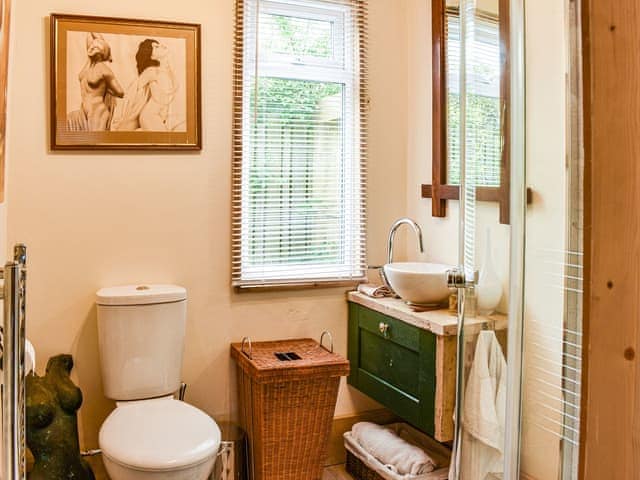
[[[204,148],[194,154],[48,151],[48,15],[52,12],[200,22]],[[344,289],[235,294],[230,288],[233,0],[21,0],[14,8],[9,111],[8,241],[29,246],[28,336],[42,373],[72,353],[84,392],[85,448],[113,404],[102,394],[94,292],[138,282],[184,285],[189,315],[187,399],[221,418],[234,410],[229,343],[334,333],[346,354]],[[369,256],[384,259],[387,229],[405,214],[405,11],[370,12]],[[400,249],[402,255],[402,249]],[[343,386],[337,415],[376,404]]]

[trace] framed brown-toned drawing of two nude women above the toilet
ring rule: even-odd
[[[51,15],[52,150],[200,150],[200,25]]]

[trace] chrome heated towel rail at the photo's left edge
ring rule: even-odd
[[[2,480],[24,480],[25,472],[25,295],[27,249],[14,247],[4,271],[2,331]]]

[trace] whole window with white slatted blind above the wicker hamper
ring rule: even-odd
[[[365,9],[237,0],[236,287],[365,277]]]

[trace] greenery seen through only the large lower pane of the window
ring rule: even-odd
[[[251,253],[260,264],[334,263],[340,258],[340,242],[329,235],[341,220],[340,178],[328,178],[319,167],[338,168],[341,162],[342,119],[323,118],[323,109],[328,105],[341,116],[342,91],[337,83],[259,81],[249,214],[279,220],[269,231],[251,231]],[[338,151],[319,152],[332,144]],[[326,195],[327,180],[335,182],[333,199]]]

